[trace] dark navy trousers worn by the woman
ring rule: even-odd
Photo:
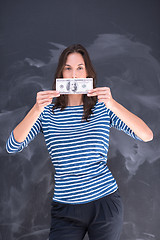
[[[49,240],[119,240],[123,205],[119,191],[85,204],[52,202]]]

